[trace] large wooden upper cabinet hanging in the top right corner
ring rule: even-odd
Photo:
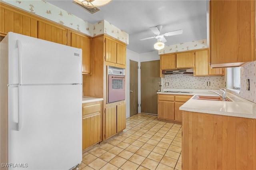
[[[210,1],[212,67],[255,61],[255,0]]]

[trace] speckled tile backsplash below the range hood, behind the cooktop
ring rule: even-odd
[[[207,81],[210,81],[210,86],[207,86]],[[225,88],[225,81],[225,76],[194,77],[193,74],[173,74],[161,78],[162,89],[221,89]]]

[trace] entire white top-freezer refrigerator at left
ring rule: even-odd
[[[9,32],[0,43],[1,168],[82,161],[82,49]]]

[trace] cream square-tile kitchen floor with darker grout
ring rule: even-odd
[[[83,153],[80,170],[181,170],[182,125],[139,113],[126,129]]]

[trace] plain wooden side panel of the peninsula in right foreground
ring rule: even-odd
[[[182,114],[183,170],[256,169],[256,119]]]

